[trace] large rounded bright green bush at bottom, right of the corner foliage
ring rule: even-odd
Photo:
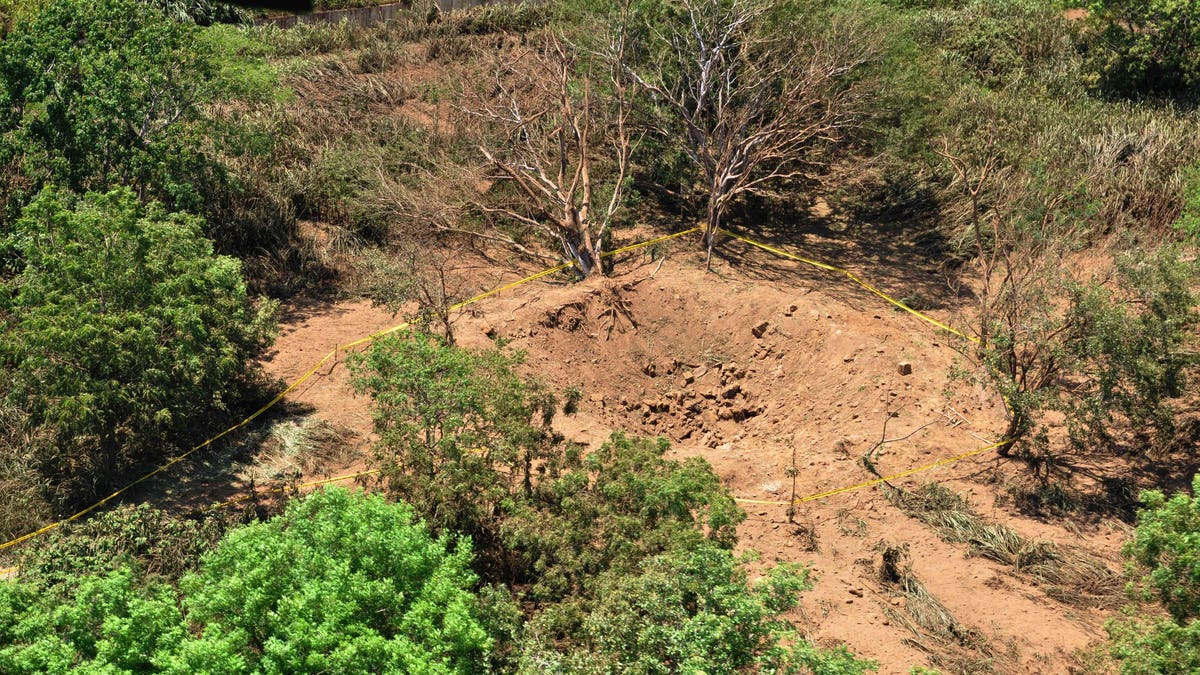
[[[202,629],[175,662],[240,655],[260,673],[478,673],[466,539],[434,539],[413,509],[330,489],[234,530],[181,583]],[[193,670],[194,671],[194,670]]]

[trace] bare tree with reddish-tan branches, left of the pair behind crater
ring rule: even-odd
[[[614,35],[610,48],[622,53],[624,40],[623,32]],[[582,71],[574,48],[548,35],[533,52],[502,62],[490,95],[468,112],[502,131],[502,143],[485,142],[479,149],[521,197],[511,204],[485,203],[484,211],[550,237],[576,271],[589,276],[601,269],[635,141],[622,71],[606,73],[606,95]]]

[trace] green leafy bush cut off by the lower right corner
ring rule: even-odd
[[[1195,673],[1200,669],[1200,476],[1192,495],[1170,500],[1163,492],[1142,492],[1138,530],[1126,545],[1134,597],[1157,599],[1170,619],[1126,616],[1109,622],[1112,656],[1122,673]]]

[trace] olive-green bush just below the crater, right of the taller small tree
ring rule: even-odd
[[[593,453],[551,455],[503,525],[505,546],[534,574],[530,599],[570,605],[592,596],[600,575],[632,574],[647,557],[737,543],[745,512],[707,461],[668,460],[668,448],[617,431]]]

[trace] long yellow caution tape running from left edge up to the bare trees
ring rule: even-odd
[[[660,241],[666,241],[668,239],[674,239],[677,237],[684,237],[685,234],[691,234],[694,232],[697,232],[698,229],[700,229],[698,227],[694,227],[694,228],[684,231],[684,232],[677,232],[674,234],[667,234],[665,237],[658,237],[655,239],[650,239],[650,240],[647,240],[647,241],[641,241],[641,243],[637,243],[637,244],[631,244],[629,246],[624,246],[624,247],[617,249],[614,251],[608,251],[606,253],[602,253],[601,257],[616,256],[618,253],[624,253],[626,251],[632,251],[632,250],[641,249],[641,247],[644,247],[644,246],[652,246],[652,245],[658,244]],[[474,298],[470,298],[468,300],[463,300],[461,303],[451,305],[450,310],[451,311],[460,310],[462,307],[466,307],[467,305],[472,305],[472,304],[478,303],[478,301],[480,301],[480,300],[482,300],[485,298],[490,298],[490,297],[492,297],[492,295],[494,295],[497,293],[502,293],[504,291],[509,291],[511,288],[516,288],[517,286],[521,286],[523,283],[529,283],[530,281],[536,281],[536,280],[539,280],[539,279],[541,279],[544,276],[548,276],[551,274],[554,274],[554,273],[569,269],[570,267],[571,267],[571,263],[563,263],[560,265],[552,267],[550,269],[545,269],[542,271],[539,271],[538,274],[529,275],[529,276],[527,276],[524,279],[520,279],[517,281],[514,281],[512,283],[506,283],[506,285],[500,286],[498,288],[492,288],[491,291],[487,291],[485,293],[480,293],[479,295],[475,295]],[[181,455],[172,459],[170,461],[168,461],[167,464],[163,464],[162,466],[158,466],[154,471],[151,471],[151,472],[149,472],[149,473],[146,473],[146,474],[137,478],[132,483],[126,484],[124,488],[116,490],[115,492],[113,492],[112,495],[108,495],[107,497],[100,500],[98,502],[89,506],[88,508],[85,508],[85,509],[83,509],[83,510],[80,510],[80,512],[78,512],[76,514],[72,514],[72,515],[70,515],[70,516],[67,516],[67,518],[65,518],[62,520],[59,520],[59,521],[55,521],[55,522],[50,522],[49,525],[47,525],[44,527],[41,527],[40,530],[35,530],[35,531],[29,532],[26,534],[22,534],[20,537],[17,537],[16,539],[11,539],[8,542],[5,542],[4,544],[0,544],[0,551],[10,549],[12,546],[16,546],[17,544],[20,544],[22,542],[26,542],[29,539],[32,539],[34,537],[44,534],[44,533],[47,533],[47,532],[49,532],[52,530],[55,530],[58,527],[61,527],[66,522],[71,522],[73,520],[78,520],[78,519],[83,518],[84,515],[88,515],[89,513],[96,510],[97,508],[107,504],[108,502],[110,502],[110,501],[115,500],[116,497],[119,497],[120,495],[125,494],[126,491],[130,490],[130,488],[133,488],[134,485],[139,485],[139,484],[149,480],[150,478],[152,478],[152,477],[162,473],[163,471],[167,471],[172,466],[175,466],[176,464],[184,461],[192,453],[196,453],[197,450],[199,450],[202,448],[206,448],[210,444],[215,443],[216,441],[218,441],[218,440],[228,436],[229,434],[233,434],[234,431],[241,429],[242,426],[246,426],[247,424],[250,424],[251,422],[253,422],[254,419],[257,419],[258,417],[260,417],[264,412],[266,412],[266,411],[271,410],[272,407],[275,407],[276,405],[278,405],[278,402],[282,401],[284,396],[287,396],[288,394],[290,394],[293,390],[295,390],[296,387],[299,387],[300,384],[305,383],[310,377],[312,377],[317,372],[317,370],[320,369],[320,366],[323,366],[326,363],[329,363],[330,359],[337,358],[337,353],[338,352],[344,352],[347,350],[353,350],[354,347],[359,347],[361,345],[366,345],[366,344],[372,342],[372,341],[374,341],[374,340],[377,340],[377,339],[379,339],[379,338],[382,338],[384,335],[389,335],[391,333],[397,333],[400,330],[404,330],[406,328],[409,328],[409,325],[410,324],[408,322],[404,322],[404,323],[401,323],[398,325],[394,325],[391,328],[386,328],[384,330],[380,330],[378,333],[372,333],[371,335],[367,335],[366,338],[362,338],[360,340],[355,340],[353,342],[348,342],[346,345],[340,345],[337,347],[334,347],[334,350],[331,350],[328,354],[325,354],[324,357],[322,357],[320,360],[317,362],[316,365],[313,365],[311,369],[308,369],[307,372],[305,372],[304,375],[301,375],[299,380],[296,380],[295,382],[293,382],[292,384],[289,384],[287,389],[284,389],[278,395],[276,395],[274,399],[271,399],[265,406],[263,406],[263,407],[258,408],[257,411],[254,411],[250,417],[242,419],[238,424],[234,424],[233,426],[230,426],[229,429],[226,429],[224,431],[217,434],[216,436],[212,436],[211,438],[208,438],[203,443],[199,443],[199,444],[194,446],[193,448],[191,448],[186,453],[184,453],[184,454],[181,454]]]

